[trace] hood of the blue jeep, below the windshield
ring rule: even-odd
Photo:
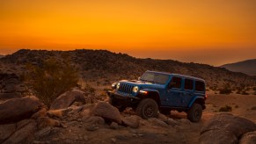
[[[159,84],[159,83],[147,83],[143,81],[137,81],[137,80],[121,80],[120,83],[128,83],[131,85],[136,85],[140,89],[165,89],[164,84]]]

